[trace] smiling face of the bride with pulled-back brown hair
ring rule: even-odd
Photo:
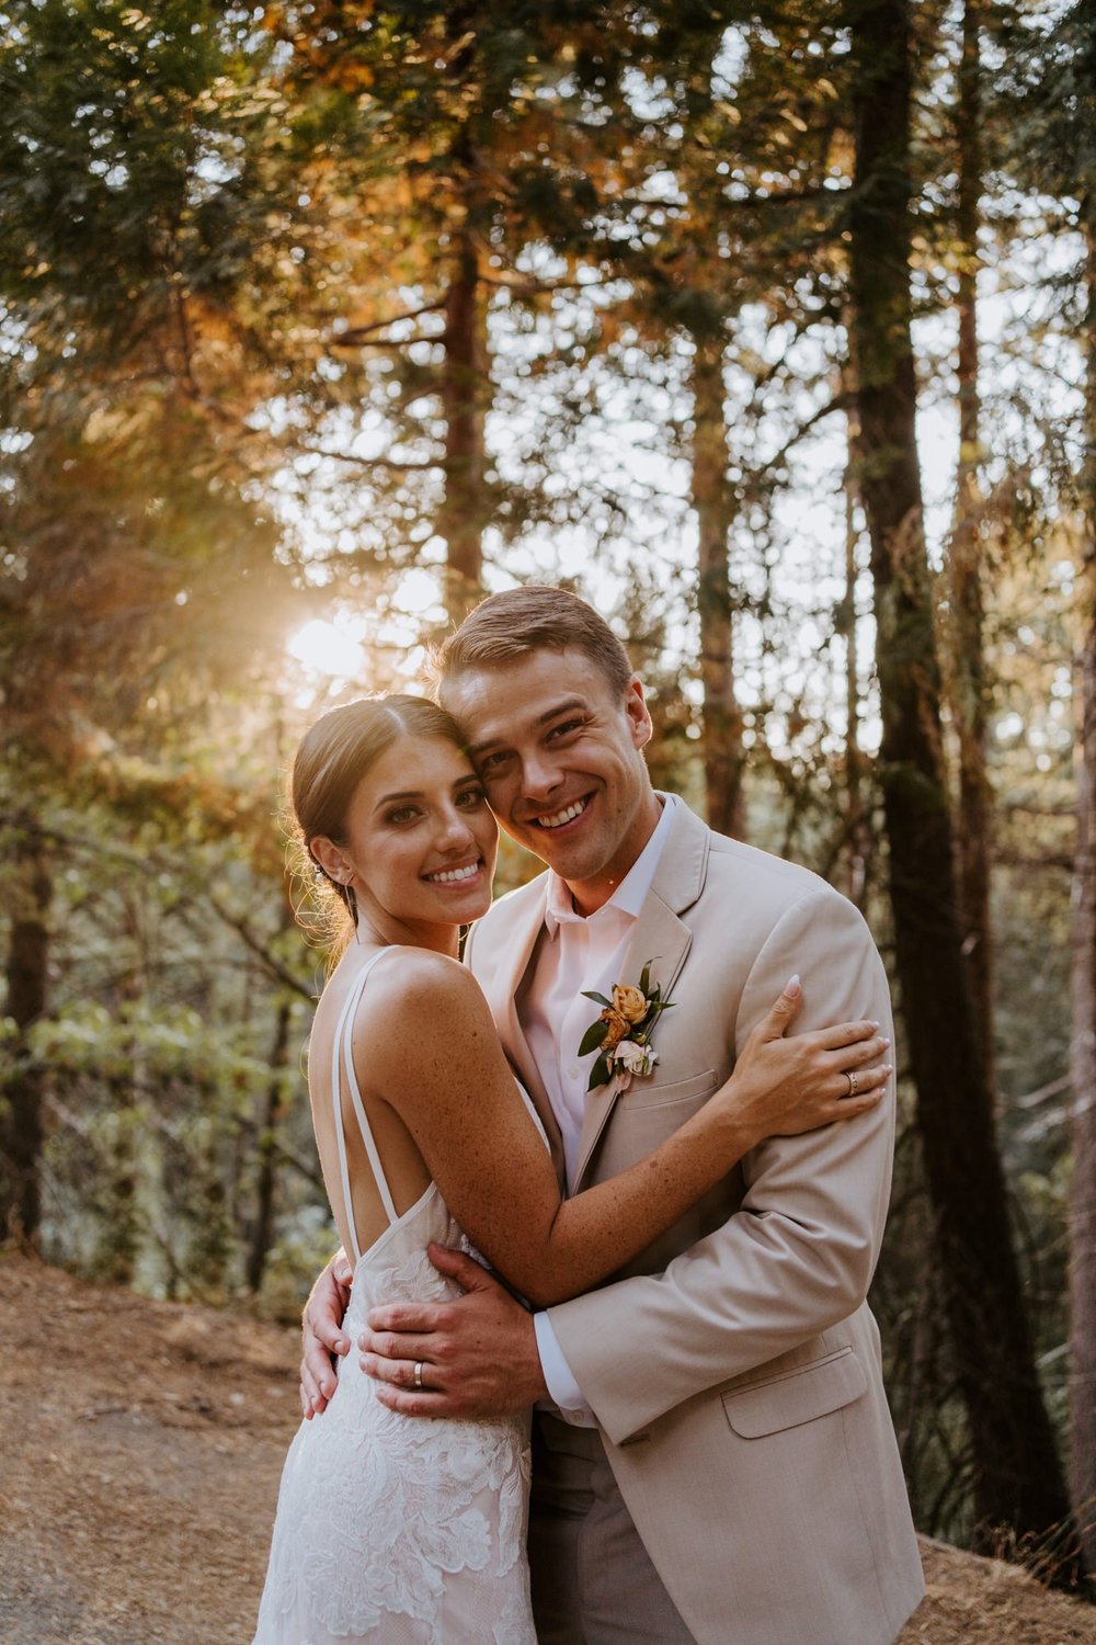
[[[498,826],[472,763],[444,737],[399,737],[358,783],[340,849],[358,911],[391,936],[393,921],[458,926],[491,903]]]

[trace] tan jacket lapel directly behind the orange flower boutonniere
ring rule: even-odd
[[[679,916],[703,890],[707,865],[708,829],[684,801],[679,801],[674,808],[670,836],[662,847],[659,867],[628,944],[623,972],[613,979],[615,982],[639,982],[642,967],[651,961],[651,982],[662,985],[662,999],[674,999],[674,987],[692,943],[692,931]],[[657,1028],[654,1048],[656,1051],[659,1048]],[[578,1193],[583,1186],[583,1175],[618,1099],[619,1089],[615,1079],[608,1086],[598,1086],[587,1097],[572,1193]]]

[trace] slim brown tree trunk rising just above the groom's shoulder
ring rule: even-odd
[[[700,579],[700,686],[708,826],[744,839],[743,716],[735,696],[735,630],[728,540],[735,503],[726,480],[723,339],[692,334],[692,505],[697,512]]]

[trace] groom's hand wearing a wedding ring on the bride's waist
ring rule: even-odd
[[[381,1405],[404,1416],[490,1418],[536,1403],[547,1388],[532,1314],[462,1252],[431,1245],[429,1255],[465,1295],[370,1308],[358,1347]]]

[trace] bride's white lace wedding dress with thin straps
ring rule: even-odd
[[[350,1054],[355,1008],[376,959],[350,989],[332,1051],[355,1255],[345,1318],[352,1342],[373,1303],[458,1295],[431,1267],[431,1240],[475,1255],[435,1183],[396,1216]],[[389,1219],[365,1253],[353,1227],[342,1076]],[[301,1423],[281,1477],[255,1645],[536,1645],[526,1564],[527,1421],[398,1416],[375,1390],[352,1349],[327,1410]]]

